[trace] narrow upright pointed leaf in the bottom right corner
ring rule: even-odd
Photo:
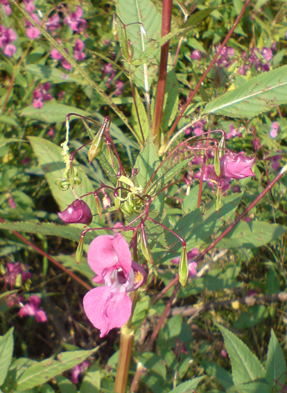
[[[281,385],[286,383],[286,372],[284,353],[272,329],[266,361],[266,379],[276,390],[280,390]]]

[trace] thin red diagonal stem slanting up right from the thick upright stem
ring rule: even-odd
[[[189,96],[188,100],[186,101],[186,104],[184,105],[184,107],[182,108],[182,112],[180,112],[180,115],[177,116],[177,119],[175,120],[175,122],[173,123],[173,126],[171,127],[171,130],[169,130],[168,132],[168,137],[167,139],[171,138],[171,135],[173,134],[173,131],[175,130],[177,123],[180,121],[180,119],[182,119],[182,116],[186,110],[186,108],[189,106],[189,104],[191,103],[193,97],[195,96],[195,94],[198,92],[198,89],[200,88],[203,80],[205,80],[205,77],[207,76],[207,74],[209,73],[209,71],[211,70],[211,67],[213,67],[214,63],[216,62],[218,56],[220,55],[221,51],[223,50],[223,46],[225,46],[225,44],[227,43],[227,41],[229,40],[229,38],[231,37],[232,33],[234,32],[234,30],[236,29],[236,26],[238,25],[240,19],[243,17],[243,14],[248,6],[248,4],[250,3],[250,0],[246,0],[245,4],[240,12],[240,14],[238,15],[236,21],[234,22],[234,25],[232,26],[232,28],[229,30],[229,33],[227,34],[227,36],[225,37],[225,40],[223,41],[223,43],[220,45],[220,48],[218,49],[218,52],[216,53],[216,55],[214,56],[213,60],[211,60],[211,63],[209,64],[209,67],[207,67],[207,70],[205,71],[205,73],[203,73],[202,77],[200,78],[198,84],[196,85],[195,89],[191,92],[191,95]]]

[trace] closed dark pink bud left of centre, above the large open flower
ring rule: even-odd
[[[86,202],[76,199],[64,211],[60,211],[58,216],[66,224],[85,224],[89,225],[93,220],[91,209]]]

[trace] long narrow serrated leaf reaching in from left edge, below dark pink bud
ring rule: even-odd
[[[36,221],[20,221],[20,222],[0,222],[0,229],[8,231],[28,232],[30,234],[42,234],[45,236],[59,236],[71,241],[79,241],[82,233],[82,225],[78,228],[71,225],[58,225],[51,222],[36,222]],[[94,236],[87,232],[85,235],[85,243],[89,244],[94,239]]]

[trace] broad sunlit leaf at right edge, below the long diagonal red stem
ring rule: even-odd
[[[224,229],[223,229],[224,230]],[[287,230],[283,225],[263,221],[238,222],[236,227],[218,243],[220,248],[260,247],[275,241]]]

